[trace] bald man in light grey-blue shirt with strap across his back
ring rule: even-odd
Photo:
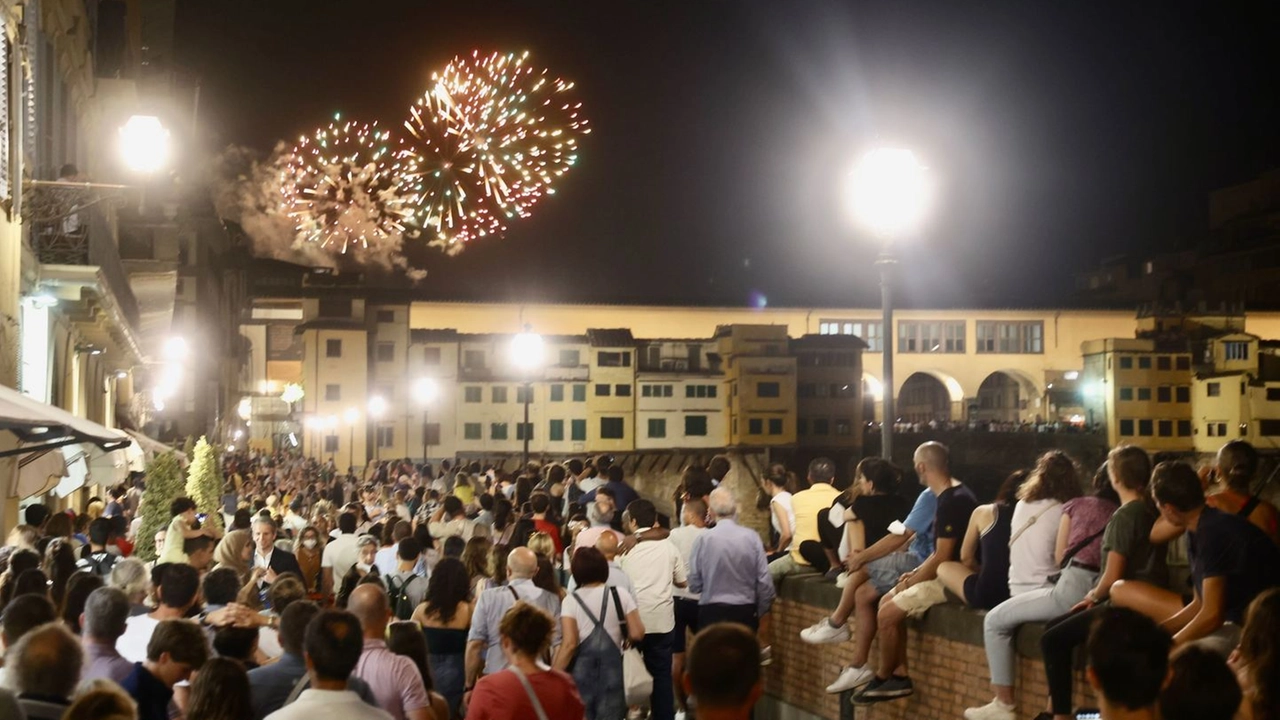
[[[507,584],[489,588],[476,598],[476,607],[471,615],[471,632],[467,634],[467,694],[481,674],[488,675],[507,667],[498,625],[502,623],[502,616],[517,601],[524,600],[552,618],[559,618],[559,597],[534,584],[532,578],[536,571],[538,556],[534,551],[517,547],[507,555]],[[554,628],[553,652],[559,644],[559,623],[556,623]]]

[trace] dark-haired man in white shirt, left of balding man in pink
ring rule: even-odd
[[[311,687],[268,720],[390,720],[347,689],[347,679],[365,650],[360,620],[343,610],[325,610],[307,625],[303,657]]]

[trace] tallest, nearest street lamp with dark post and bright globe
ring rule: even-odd
[[[863,156],[854,169],[850,201],[859,224],[883,243],[876,259],[881,272],[881,310],[883,311],[883,421],[881,423],[881,456],[893,457],[893,296],[890,281],[893,265],[893,241],[910,233],[924,215],[927,200],[924,167],[910,150],[878,147]]]

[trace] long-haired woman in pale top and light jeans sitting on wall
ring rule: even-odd
[[[1014,720],[1014,634],[1023,623],[1065,615],[1093,587],[1097,573],[1064,574],[1055,584],[1065,552],[1062,503],[1082,495],[1080,473],[1064,452],[1041,455],[1032,477],[1018,491],[1010,524],[1009,594],[983,619],[983,642],[996,700],[964,711],[966,720]]]

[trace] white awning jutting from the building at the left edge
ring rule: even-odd
[[[91,443],[109,451],[133,443],[133,438],[123,430],[77,418],[61,407],[46,405],[4,386],[0,386],[0,430],[9,430],[22,443],[14,450],[0,450],[0,457],[67,445]]]

